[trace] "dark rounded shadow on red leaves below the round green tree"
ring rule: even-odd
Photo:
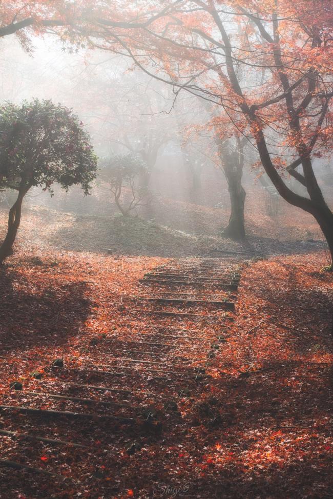
[[[0,350],[63,345],[78,332],[91,310],[87,283],[36,288],[15,270],[0,270]]]

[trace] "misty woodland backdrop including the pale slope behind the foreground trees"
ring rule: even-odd
[[[214,131],[205,125],[209,109],[199,98],[184,92],[175,100],[171,87],[133,69],[123,57],[99,50],[70,53],[50,35],[33,38],[32,45],[28,56],[17,39],[3,39],[3,100],[19,104],[38,97],[72,108],[92,137],[99,171],[90,196],[84,196],[79,186],[65,192],[55,185],[53,197],[41,188],[31,189],[23,210],[28,230],[24,239],[19,231],[19,242],[162,256],[238,247],[222,238],[230,216],[228,183]],[[127,154],[147,165],[135,178],[135,188],[146,189],[146,195],[131,216],[123,217],[103,166],[114,155]],[[301,251],[315,241],[324,247],[315,219],[279,196],[262,167],[255,165],[257,160],[255,148],[247,144],[243,246],[267,253]],[[315,167],[332,208],[332,166],[318,158]],[[302,193],[294,178],[285,181]],[[131,202],[131,194],[125,185],[120,197],[124,206]],[[15,195],[0,192],[3,225]]]

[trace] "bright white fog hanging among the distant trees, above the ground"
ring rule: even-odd
[[[130,215],[189,234],[221,234],[231,205],[214,131],[207,126],[216,110],[185,91],[175,98],[171,86],[144,74],[124,57],[98,49],[70,52],[51,35],[32,38],[30,54],[14,36],[2,40],[0,51],[3,100],[19,104],[37,97],[72,108],[99,157],[91,195],[84,196],[79,187],[65,192],[55,186],[51,197],[35,187],[26,196],[27,207],[52,210],[54,217],[57,213],[118,216],[105,166],[115,155],[131,154],[147,168],[135,178],[135,189],[144,187],[145,195],[134,203]],[[247,143],[242,176],[246,231],[252,237],[263,236],[274,225],[270,236],[299,237],[292,234],[299,211],[283,201],[261,167],[253,167],[257,160],[256,149]],[[332,206],[331,167],[318,161],[316,172]],[[285,181],[304,194],[295,179],[286,176]],[[0,195],[2,206],[10,206],[14,193]],[[124,185],[122,205],[128,207],[131,196],[129,185]],[[309,215],[301,217],[312,224]],[[315,237],[318,230],[307,228],[305,235]]]

